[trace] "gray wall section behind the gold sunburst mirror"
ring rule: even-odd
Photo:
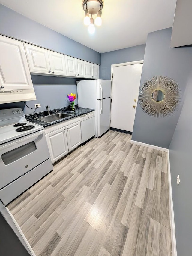
[[[152,76],[168,76],[177,81],[182,95],[191,74],[192,47],[170,49],[172,28],[148,34],[141,76],[141,84]],[[147,144],[169,148],[179,110],[170,117],[154,118],[145,114],[137,105],[132,139]]]

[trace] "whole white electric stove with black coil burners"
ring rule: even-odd
[[[0,199],[7,205],[53,169],[43,126],[21,108],[0,111]]]

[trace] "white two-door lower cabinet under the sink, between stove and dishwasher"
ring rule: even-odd
[[[49,126],[44,130],[52,163],[82,143],[80,117]]]

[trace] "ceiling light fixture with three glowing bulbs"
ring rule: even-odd
[[[85,11],[84,24],[86,26],[89,26],[88,31],[90,34],[93,34],[95,32],[93,15],[97,14],[97,17],[95,19],[95,25],[101,26],[102,24],[101,10],[103,9],[103,6],[103,0],[84,0],[82,2],[82,7]],[[91,14],[91,18],[89,17],[89,14]]]

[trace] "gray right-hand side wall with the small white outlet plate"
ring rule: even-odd
[[[184,95],[184,104],[173,139],[170,144],[170,168],[173,193],[173,208],[176,228],[177,255],[192,254],[192,71],[188,77]],[[179,174],[181,183],[177,186],[176,177]]]

